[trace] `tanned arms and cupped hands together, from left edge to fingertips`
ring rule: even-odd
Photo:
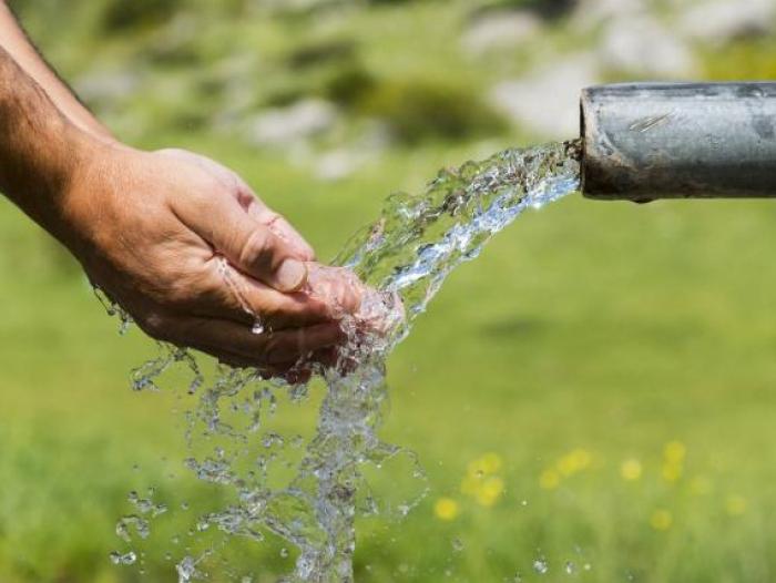
[[[45,65],[2,0],[0,192],[153,338],[266,375],[343,339],[330,306],[299,292],[315,257],[285,218],[212,160],[121,144]],[[224,259],[241,294],[225,282]],[[350,290],[338,303],[356,304],[341,294]],[[254,334],[248,311],[272,331]]]

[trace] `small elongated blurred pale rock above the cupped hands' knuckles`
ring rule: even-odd
[[[246,137],[256,145],[292,145],[325,133],[337,122],[337,109],[321,100],[299,101],[266,110],[246,124]]]

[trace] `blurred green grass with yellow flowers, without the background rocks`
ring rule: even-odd
[[[451,11],[438,23],[439,2],[419,2],[411,18],[408,8],[378,10],[341,30],[321,22],[318,32],[360,31],[364,62],[386,76],[433,71],[466,88],[523,67],[514,55],[489,68],[453,59],[443,32],[458,21]],[[31,22],[44,30],[44,19]],[[82,72],[84,51],[98,45],[73,43],[78,30],[44,39],[63,48],[68,74]],[[264,23],[232,40],[218,30],[203,33],[203,52],[289,43]],[[433,50],[407,47],[409,38]],[[773,57],[762,57],[772,44],[760,42],[726,59],[709,53],[708,74],[773,70]],[[133,62],[146,48],[120,39],[95,60]],[[173,78],[198,65],[176,67]],[[283,73],[266,73],[287,89]],[[509,131],[487,142],[426,136],[320,182],[279,153],[206,126],[183,130],[157,105],[136,110],[151,124],[139,135],[139,103],[116,114],[118,126],[139,145],[175,144],[231,165],[324,258],[391,191],[418,191],[443,165],[527,143]],[[167,122],[160,132],[159,120]],[[402,522],[359,524],[357,580],[775,580],[774,224],[770,202],[636,206],[572,196],[523,216],[456,272],[389,362],[385,437],[418,452],[431,492]],[[155,346],[136,331],[120,337],[72,259],[4,200],[0,274],[0,581],[174,581],[164,553],[180,555],[170,538],[188,528],[185,513],[154,526],[144,577],[108,555],[122,549],[114,526],[130,490],[154,487],[171,508],[217,495],[181,461],[183,427],[172,411],[190,398],[130,390],[130,369]],[[312,427],[319,398],[287,409],[289,422]],[[378,489],[389,494],[396,475],[382,473]],[[276,541],[234,554],[262,582],[294,559]]]

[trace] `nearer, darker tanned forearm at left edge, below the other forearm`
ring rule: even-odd
[[[93,140],[0,48],[0,192],[59,238],[64,198]]]

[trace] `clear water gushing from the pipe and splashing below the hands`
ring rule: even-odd
[[[337,366],[315,370],[326,393],[315,433],[307,440],[272,425],[278,402],[303,401],[306,386],[263,381],[256,371],[224,367],[214,382],[204,385],[195,358],[170,347],[134,372],[135,389],[153,388],[172,364],[187,364],[193,371],[188,392],[197,393],[198,402],[187,413],[192,457],[185,464],[201,480],[228,492],[224,508],[197,514],[188,533],[192,542],[177,560],[181,583],[208,579],[206,565],[234,536],[261,543],[268,533],[295,549],[296,567],[283,581],[353,581],[356,516],[404,516],[426,491],[413,453],[378,437],[388,395],[387,356],[452,269],[474,259],[524,209],[579,188],[579,160],[580,144],[569,142],[509,150],[443,170],[421,195],[390,196],[380,218],[336,258],[339,267],[310,273],[310,294],[356,276],[368,288],[355,315],[336,314],[349,341]],[[397,460],[415,488],[406,499],[387,502],[372,492],[364,470]],[[127,542],[147,536],[151,520],[167,510],[153,497],[135,492],[130,502],[136,511],[116,529]],[[206,539],[213,531],[225,533],[222,546]],[[197,538],[207,542],[197,546],[193,542]],[[282,555],[288,554],[284,548]],[[136,554],[130,549],[112,559],[131,564]],[[228,576],[242,583],[254,575],[228,572]]]

